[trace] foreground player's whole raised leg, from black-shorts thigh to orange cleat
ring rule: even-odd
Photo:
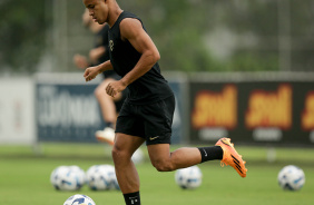
[[[150,136],[147,138],[148,154],[158,170],[169,172],[207,160],[220,159],[226,165],[233,166],[242,177],[246,176],[245,162],[227,138],[219,139],[216,146],[183,147],[170,153],[174,106],[175,99],[170,97],[140,108],[141,117],[145,118],[145,136]]]

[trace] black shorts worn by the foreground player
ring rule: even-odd
[[[170,144],[175,105],[174,96],[148,105],[125,101],[116,133],[143,137],[146,145]]]

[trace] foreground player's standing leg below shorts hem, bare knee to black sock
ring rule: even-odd
[[[135,150],[145,141],[144,138],[116,134],[112,148],[112,158],[116,168],[117,179],[125,196],[126,204],[140,204],[139,177],[131,160]]]

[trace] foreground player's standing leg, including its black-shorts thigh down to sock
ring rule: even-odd
[[[135,150],[145,141],[144,123],[137,117],[137,106],[125,101],[116,126],[112,148],[117,178],[127,205],[139,205],[139,177],[131,160]],[[136,137],[139,136],[139,137]]]

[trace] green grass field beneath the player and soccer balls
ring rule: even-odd
[[[51,172],[60,165],[78,165],[85,170],[96,164],[112,164],[110,147],[82,144],[42,144],[41,154],[30,147],[0,146],[0,204],[62,205],[71,195],[90,196],[97,205],[124,205],[120,192],[94,192],[87,186],[77,192],[58,192],[50,184]],[[146,147],[143,147],[146,153]],[[175,148],[175,147],[174,147]],[[266,162],[263,147],[236,147],[247,160],[247,177],[219,162],[199,165],[203,184],[194,191],[180,189],[175,173],[158,173],[146,158],[137,165],[144,205],[312,205],[314,203],[314,150],[277,148],[276,160]],[[305,186],[300,192],[282,191],[277,184],[279,169],[288,164],[303,168]]]

